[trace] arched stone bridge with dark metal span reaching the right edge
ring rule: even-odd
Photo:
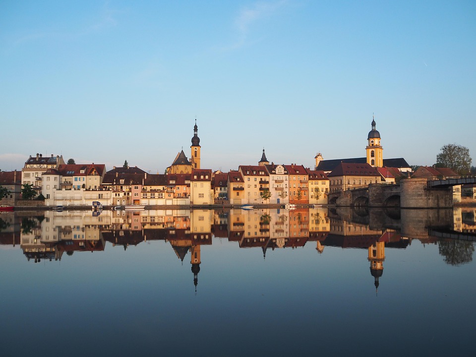
[[[452,186],[476,183],[475,176],[453,179],[402,179],[397,184],[370,184],[330,192],[328,203],[349,207],[450,208]]]

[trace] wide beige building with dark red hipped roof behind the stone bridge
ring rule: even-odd
[[[331,173],[329,178],[330,192],[341,191],[355,187],[367,186],[370,183],[379,183],[380,174],[369,164],[341,163]]]

